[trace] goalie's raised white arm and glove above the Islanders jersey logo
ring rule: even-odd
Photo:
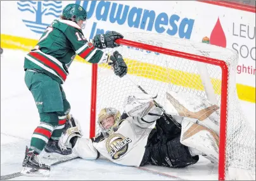
[[[128,96],[124,111],[141,128],[150,127],[162,115],[162,109],[155,106],[152,96],[148,94],[133,94]]]

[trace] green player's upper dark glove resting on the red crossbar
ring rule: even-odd
[[[118,47],[120,46],[115,42],[117,39],[124,38],[123,35],[118,32],[107,32],[106,34],[95,35],[93,38],[94,47],[98,49],[105,49],[106,47]]]

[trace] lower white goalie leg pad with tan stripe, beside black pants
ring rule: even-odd
[[[204,153],[203,156],[210,159],[212,163],[218,163],[219,136],[213,130],[184,118],[181,129],[181,144]]]

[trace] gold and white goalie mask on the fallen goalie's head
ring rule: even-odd
[[[101,109],[98,115],[98,123],[101,131],[112,134],[113,128],[117,125],[120,120],[121,113],[115,108],[104,108]]]

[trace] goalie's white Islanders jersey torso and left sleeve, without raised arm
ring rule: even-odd
[[[72,151],[84,159],[96,159],[101,154],[120,165],[139,166],[151,128],[140,128],[133,121],[127,118],[116,132],[99,142],[78,139]]]

